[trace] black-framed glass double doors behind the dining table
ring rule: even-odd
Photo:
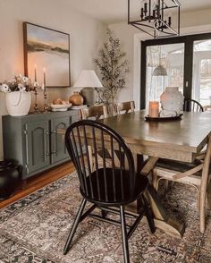
[[[140,108],[174,85],[185,98],[210,105],[211,33],[141,41]]]

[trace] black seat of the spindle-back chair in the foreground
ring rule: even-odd
[[[136,182],[135,182],[135,191],[134,189],[131,190],[133,192],[133,195],[131,196],[131,192],[129,192],[128,183],[129,180],[129,172],[124,171],[122,173],[122,185],[124,189],[124,199],[122,199],[122,193],[121,193],[121,173],[119,169],[114,169],[114,178],[115,182],[113,182],[113,169],[112,168],[106,168],[105,170],[106,176],[104,177],[104,169],[98,169],[98,171],[93,172],[91,176],[87,177],[87,183],[88,183],[88,196],[82,189],[80,189],[80,193],[85,199],[88,199],[90,202],[95,203],[97,205],[103,205],[104,206],[120,206],[124,204],[131,203],[132,201],[139,198],[139,195],[141,195],[148,187],[148,178],[145,175],[137,174],[136,175]],[[98,185],[100,190],[100,196],[97,191],[97,178],[98,178]],[[91,196],[91,188],[89,180],[92,181],[92,189],[93,189],[93,198],[90,198]],[[107,193],[105,193],[105,183],[107,185]],[[116,199],[114,199],[114,189],[116,191]],[[107,199],[106,199],[107,195]]]

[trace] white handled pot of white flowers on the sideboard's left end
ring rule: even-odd
[[[30,91],[38,87],[37,82],[32,82],[21,74],[13,77],[11,81],[0,83],[0,91],[5,93],[5,104],[9,115],[28,115],[30,111]]]

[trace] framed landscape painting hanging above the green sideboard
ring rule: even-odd
[[[46,87],[70,87],[70,35],[23,22],[24,72]]]

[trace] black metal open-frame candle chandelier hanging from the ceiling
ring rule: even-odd
[[[128,0],[128,23],[147,33],[153,38],[165,38],[180,35],[180,7],[178,0],[141,0],[139,19],[131,19],[133,4],[137,0]],[[137,9],[137,8],[136,8]],[[169,15],[170,10],[176,11],[176,24]],[[175,27],[176,29],[173,29]],[[147,30],[149,29],[149,31]],[[150,30],[151,29],[151,30]]]

